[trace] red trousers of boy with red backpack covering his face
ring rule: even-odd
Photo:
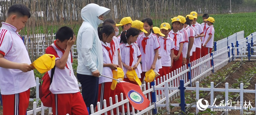
[[[53,115],[88,115],[87,107],[80,92],[51,94]]]

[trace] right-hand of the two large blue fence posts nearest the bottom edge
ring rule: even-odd
[[[181,111],[183,111],[184,113],[186,112],[185,110],[185,106],[187,106],[187,104],[185,103],[185,89],[186,87],[184,87],[184,80],[181,79],[180,80],[180,104],[179,106],[181,107]],[[184,113],[181,113],[182,115],[184,115]]]

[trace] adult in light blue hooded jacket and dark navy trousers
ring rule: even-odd
[[[94,108],[98,99],[99,76],[103,70],[103,53],[98,37],[98,25],[110,9],[88,4],[81,10],[82,23],[76,41],[78,53],[77,79],[82,85],[82,96],[88,107]]]

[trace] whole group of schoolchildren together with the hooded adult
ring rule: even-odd
[[[191,12],[185,17],[173,17],[171,24],[163,22],[158,28],[154,27],[151,18],[133,21],[124,17],[119,24],[109,18],[102,22],[108,12],[110,9],[96,4],[88,4],[81,10],[84,22],[78,31],[76,45],[77,79],[82,95],[72,68],[70,49],[76,40],[73,30],[61,27],[54,43],[46,49],[47,54],[56,57],[55,77],[50,85],[53,114],[89,114],[87,110],[91,104],[95,108],[97,102],[101,102],[103,109],[103,99],[108,107],[109,97],[119,96],[123,89],[117,84],[113,90],[112,79],[99,77],[101,74],[112,77],[112,71],[121,68],[123,81],[139,85],[147,71],[157,71],[160,78],[212,51],[215,20],[208,14],[202,16],[202,24],[197,23],[197,13]],[[14,4],[0,30],[0,89],[4,115],[24,115],[29,88],[35,86],[31,71],[34,67],[29,65],[26,47],[18,35],[28,18],[29,9],[23,4]],[[122,32],[118,36],[120,26]],[[126,73],[133,70],[140,83],[127,77]],[[117,114],[115,110],[114,114]]]

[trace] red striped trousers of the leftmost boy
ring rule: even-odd
[[[26,115],[30,89],[11,95],[2,95],[3,115]]]

